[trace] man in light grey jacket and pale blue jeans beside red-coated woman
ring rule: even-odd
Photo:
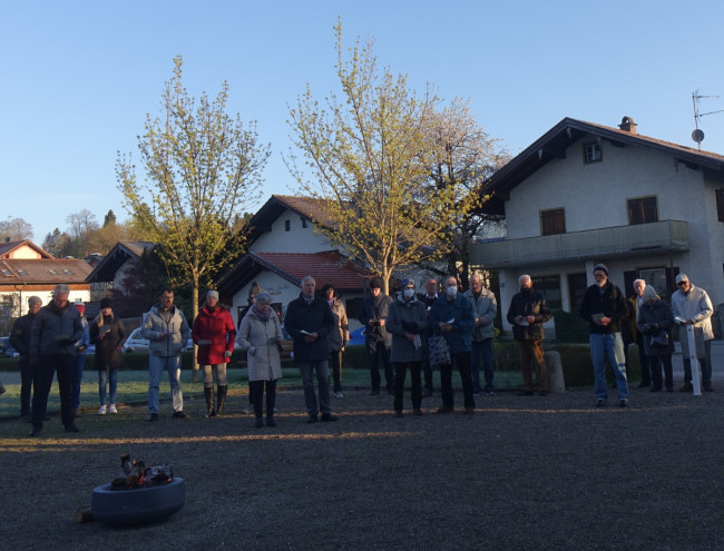
[[[158,390],[164,370],[168,371],[174,419],[188,419],[184,412],[180,387],[180,352],[188,342],[190,329],[184,313],[174,306],[174,291],[166,287],[160,301],[145,315],[140,334],[148,338],[148,412],[147,421],[158,421]]]

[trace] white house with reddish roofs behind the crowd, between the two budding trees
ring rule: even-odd
[[[274,308],[285,312],[300,294],[304,276],[335,286],[345,303],[353,327],[355,309],[363,296],[365,278],[322,235],[314,224],[326,224],[321,201],[305,197],[273,195],[250,222],[248,253],[217,278],[221,301],[232,305],[232,316],[247,305],[254,282],[274,298]]]

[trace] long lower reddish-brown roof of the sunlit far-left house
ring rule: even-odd
[[[91,269],[86,260],[77,258],[2,258],[0,285],[86,283]]]

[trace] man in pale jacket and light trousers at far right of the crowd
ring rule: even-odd
[[[712,301],[706,291],[692,285],[686,274],[676,276],[676,286],[678,291],[672,295],[674,322],[684,328],[687,325],[694,326],[696,357],[702,365],[702,388],[713,392],[712,340],[714,332],[712,331],[712,314],[714,314],[714,307]],[[684,355],[684,386],[679,391],[692,392],[694,387],[692,386],[692,361],[689,360],[687,332],[684,329],[679,332],[679,335]]]

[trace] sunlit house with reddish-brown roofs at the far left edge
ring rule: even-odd
[[[86,277],[91,267],[81,259],[59,259],[29,239],[0,245],[0,301],[3,314],[18,317],[28,312],[28,297],[48,304],[59,283],[70,287],[70,302],[90,299]]]

